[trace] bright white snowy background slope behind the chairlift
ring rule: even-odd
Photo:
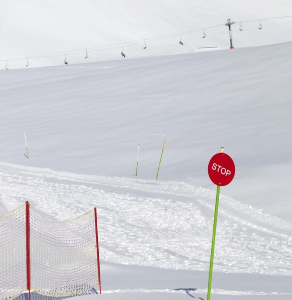
[[[25,67],[26,56],[29,67],[62,64],[65,53],[69,64],[120,59],[122,46],[128,57],[188,53],[207,46],[228,48],[224,26],[228,18],[255,20],[243,22],[243,31],[239,23],[233,26],[235,47],[285,42],[292,36],[292,17],[265,20],[292,15],[291,0],[13,0],[2,1],[0,8],[3,68],[5,59],[15,57],[24,58],[8,61],[8,68]],[[201,29],[220,24],[206,29],[202,38]],[[183,35],[186,44],[180,46],[180,32],[192,30],[199,31]],[[171,36],[156,38],[165,35]],[[144,39],[147,49],[143,49]],[[85,48],[91,47],[101,48],[89,52],[85,60]],[[70,52],[76,49],[81,51]],[[57,56],[31,58],[46,53]]]

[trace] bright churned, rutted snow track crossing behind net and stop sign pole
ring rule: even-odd
[[[0,163],[1,202],[57,220],[98,210],[104,261],[207,270],[215,192],[183,182],[72,174]],[[292,275],[292,224],[221,196],[214,270]]]

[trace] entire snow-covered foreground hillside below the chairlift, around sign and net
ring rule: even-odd
[[[79,299],[206,300],[207,165],[224,146],[237,172],[221,189],[212,299],[291,299],[291,53],[0,71],[0,212],[29,200],[67,220],[97,207],[104,293]]]

